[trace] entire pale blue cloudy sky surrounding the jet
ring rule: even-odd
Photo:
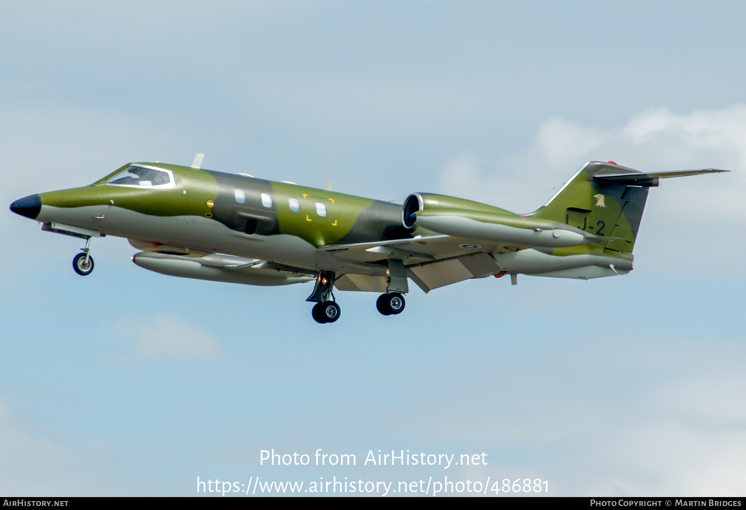
[[[93,239],[80,277],[78,239],[6,211],[0,494],[190,496],[199,477],[220,480],[207,496],[247,497],[346,476],[383,482],[363,491],[377,497],[389,482],[386,497],[424,495],[399,485],[424,480],[432,497],[448,476],[499,497],[515,494],[492,491],[504,479],[548,482],[532,495],[743,496],[745,15],[736,1],[4,2],[8,205],[196,153],[216,171],[516,213],[589,160],[731,172],[651,189],[624,277],[414,289],[389,317],[374,294],[337,292],[327,325],[308,284],[167,277],[132,264],[126,239]],[[272,449],[310,463],[260,464]],[[356,465],[317,466],[319,449]],[[364,463],[378,450],[457,464]]]

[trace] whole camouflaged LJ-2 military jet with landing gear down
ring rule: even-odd
[[[533,213],[413,193],[403,205],[249,174],[128,163],[90,186],[10,204],[42,230],[85,239],[72,267],[93,271],[90,240],[119,236],[141,268],[258,286],[314,282],[313,318],[339,318],[333,289],[380,292],[383,315],[404,310],[409,280],[424,292],[469,278],[590,278],[629,273],[648,189],[718,169],[641,172],[586,163]]]

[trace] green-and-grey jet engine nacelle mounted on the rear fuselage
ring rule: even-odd
[[[516,215],[498,207],[432,193],[413,193],[407,197],[401,222],[409,230],[422,227],[447,236],[544,248],[568,248],[609,240],[557,221]]]

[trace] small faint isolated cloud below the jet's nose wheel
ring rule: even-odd
[[[219,355],[218,343],[210,330],[190,324],[178,315],[164,314],[150,321],[122,322],[119,332],[136,340],[132,352],[135,359],[215,359]]]

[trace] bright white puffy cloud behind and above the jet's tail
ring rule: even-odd
[[[727,176],[689,177],[685,185],[677,186],[678,201],[717,204],[720,211],[729,213],[746,212],[746,204],[739,200],[746,190],[746,105],[687,115],[651,109],[612,129],[550,119],[539,127],[530,147],[495,162],[499,171],[480,169],[473,154],[449,161],[440,189],[454,195],[489,196],[491,203],[504,201],[526,212],[521,210],[524,197],[516,201],[504,195],[557,186],[589,160],[614,160],[641,171],[733,170]],[[672,184],[665,180],[661,186]]]

